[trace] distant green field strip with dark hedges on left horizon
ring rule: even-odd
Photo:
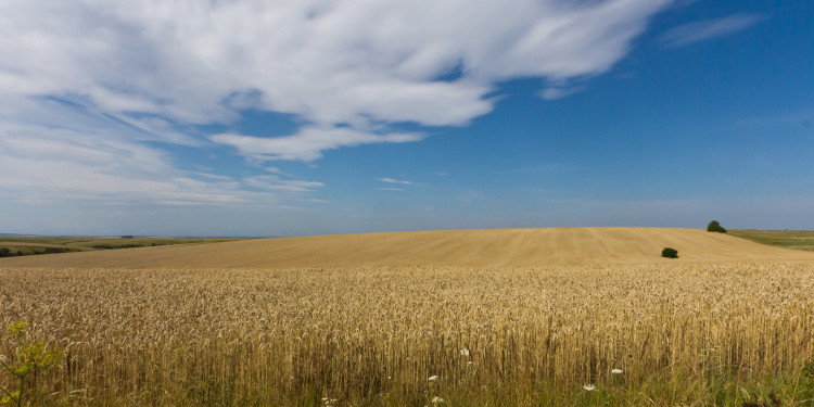
[[[0,251],[8,249],[10,254],[51,254],[88,252],[111,249],[163,246],[174,244],[198,244],[228,242],[240,239],[226,238],[132,238],[122,237],[18,237],[0,236]]]

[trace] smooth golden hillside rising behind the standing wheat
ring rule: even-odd
[[[664,246],[677,249],[681,258],[661,258]],[[698,229],[544,228],[259,239],[2,258],[0,267],[500,267],[695,260],[814,260],[814,254]]]

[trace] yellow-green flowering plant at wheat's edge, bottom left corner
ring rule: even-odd
[[[14,390],[0,386],[0,392],[2,392],[0,405],[20,407],[24,405],[24,399],[27,404],[36,402],[42,386],[42,376],[48,373],[60,359],[60,351],[47,349],[42,342],[24,343],[27,328],[28,321],[24,320],[11,322],[5,329],[16,343],[16,361],[0,356],[0,367],[3,372],[12,377],[12,382],[15,382],[17,387]]]

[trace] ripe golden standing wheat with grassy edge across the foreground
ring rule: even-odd
[[[7,268],[0,322],[63,355],[46,405],[811,406],[812,292],[810,264]]]

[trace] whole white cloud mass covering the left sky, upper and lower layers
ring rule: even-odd
[[[512,78],[601,74],[670,3],[5,0],[0,169],[13,176],[3,188],[174,203],[307,193],[319,186],[190,178],[156,142],[310,162],[343,147],[419,141],[423,132],[381,129],[467,125]],[[189,130],[228,129],[245,109],[289,114],[298,127],[284,137]]]

